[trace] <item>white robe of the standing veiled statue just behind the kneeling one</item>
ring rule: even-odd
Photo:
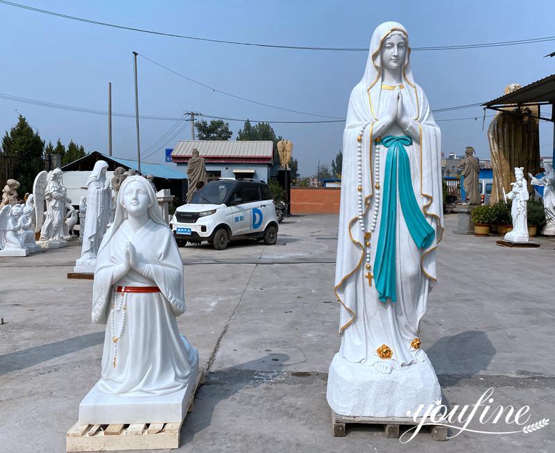
[[[98,179],[90,181],[87,187],[87,209],[89,216],[83,231],[81,260],[94,259],[106,232],[111,217],[112,193],[109,186]]]

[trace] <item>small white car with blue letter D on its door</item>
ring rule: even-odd
[[[223,250],[230,240],[255,238],[274,245],[278,219],[268,184],[256,180],[218,179],[179,206],[170,228],[180,247],[208,241]]]

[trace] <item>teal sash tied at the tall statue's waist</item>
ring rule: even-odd
[[[382,217],[379,223],[374,263],[374,281],[379,300],[397,302],[395,280],[395,247],[397,233],[397,199],[401,204],[404,222],[411,238],[419,249],[425,249],[434,242],[435,231],[427,222],[418,206],[412,187],[411,165],[405,146],[412,145],[407,135],[388,135],[381,142],[388,149],[384,188],[382,193]]]

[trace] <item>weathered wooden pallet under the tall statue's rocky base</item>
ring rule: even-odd
[[[410,417],[351,417],[349,415],[339,415],[332,411],[332,427],[334,437],[345,437],[345,425],[358,423],[364,425],[384,425],[386,438],[399,438],[400,425],[418,425]],[[429,426],[429,425],[427,425]],[[434,440],[447,440],[447,427],[443,425],[429,426]]]

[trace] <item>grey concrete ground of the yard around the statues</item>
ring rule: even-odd
[[[555,451],[553,425],[530,434],[464,432],[447,443],[422,432],[408,445],[385,438],[380,427],[350,425],[346,437],[332,436],[325,388],[339,347],[337,222],[333,215],[290,217],[270,247],[181,249],[188,309],[178,323],[207,380],[179,451]],[[555,240],[507,249],[493,237],[454,235],[454,216],[445,227],[439,281],[421,329],[444,402],[474,404],[493,387],[494,407],[529,405],[530,423],[552,418]],[[2,452],[64,452],[79,402],[99,379],[105,327],[90,322],[92,283],[66,278],[79,252],[72,245],[0,258]]]

